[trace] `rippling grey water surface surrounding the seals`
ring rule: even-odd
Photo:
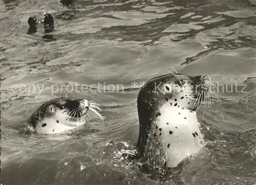
[[[0,1],[3,185],[255,184],[255,7],[246,0],[95,0],[79,1],[77,10],[58,3]],[[28,35],[28,18],[44,12],[55,31],[46,35],[41,25]],[[208,144],[181,167],[153,173],[123,150],[137,142],[139,87],[172,67],[207,74],[219,88],[211,108],[198,112]],[[104,121],[90,113],[90,124],[65,136],[24,131],[42,102],[65,92],[99,103]]]

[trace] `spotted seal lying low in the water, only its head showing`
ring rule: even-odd
[[[97,104],[86,99],[56,98],[42,104],[29,118],[36,133],[59,134],[86,123],[88,111],[101,111]]]

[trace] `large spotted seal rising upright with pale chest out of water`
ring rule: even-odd
[[[176,167],[203,146],[196,109],[210,93],[211,78],[166,74],[148,81],[137,98],[138,156],[154,167]]]

